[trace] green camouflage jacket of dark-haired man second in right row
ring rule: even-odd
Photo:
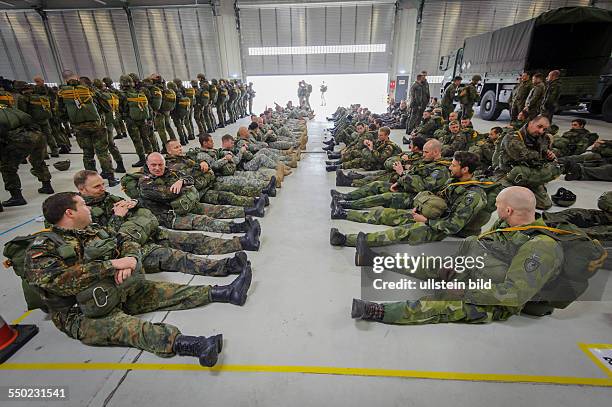
[[[430,228],[447,236],[480,233],[482,225],[473,224],[487,205],[487,194],[480,186],[449,179],[438,195],[446,200],[448,209],[440,219],[427,221]]]

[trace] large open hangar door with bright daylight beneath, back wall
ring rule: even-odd
[[[266,101],[297,103],[302,79],[313,86],[310,103],[317,112],[357,102],[385,109],[395,1],[238,0],[236,6],[243,69],[257,91],[255,109]],[[323,81],[326,109],[320,106]]]

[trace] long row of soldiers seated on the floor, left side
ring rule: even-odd
[[[264,117],[262,128],[255,121],[250,130],[241,127],[237,143],[225,135],[221,148],[209,134],[187,153],[178,140],[169,140],[165,156],[150,153],[142,171],[122,178],[129,198],[109,193],[96,171],[78,171],[78,193],[61,192],[43,203],[49,229],[5,245],[28,307],[48,312],[59,330],[88,345],[195,356],[203,366],[215,365],[221,334],[184,335],[171,324],[135,315],[245,303],[252,269],[244,251],[260,248],[261,226],[253,218],[264,216],[291,173],[287,164],[297,166],[307,142],[304,120],[273,112]],[[225,253],[235,254],[200,257]],[[156,272],[237,277],[212,286],[145,278]]]

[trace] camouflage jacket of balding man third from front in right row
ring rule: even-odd
[[[450,178],[450,161],[421,161],[410,167],[397,181],[402,192],[418,193],[437,191],[446,185]]]

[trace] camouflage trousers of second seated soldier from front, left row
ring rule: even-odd
[[[183,233],[183,235],[187,234],[193,236],[195,233]],[[227,269],[229,258],[212,260],[197,255],[224,254],[218,252],[219,247],[215,246],[216,242],[203,242],[203,239],[193,239],[192,237],[189,237],[189,241],[187,239],[181,240],[181,242],[171,242],[168,240],[162,241],[161,243],[165,243],[169,246],[175,245],[193,249],[193,252],[190,253],[184,250],[173,249],[172,247],[162,246],[157,243],[145,244],[142,247],[142,266],[145,273],[150,274],[167,271],[215,277],[223,277],[229,274]],[[196,240],[196,242],[191,243],[191,240]],[[222,244],[224,243],[225,242]]]

